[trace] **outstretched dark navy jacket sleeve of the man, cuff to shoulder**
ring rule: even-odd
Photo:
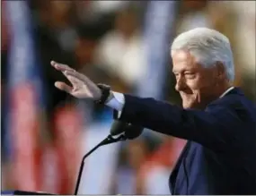
[[[224,150],[228,143],[237,140],[234,131],[241,126],[238,115],[225,105],[216,104],[200,111],[130,95],[125,95],[119,119],[216,150]]]

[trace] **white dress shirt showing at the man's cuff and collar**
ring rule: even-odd
[[[232,89],[234,89],[234,87],[230,87],[229,89],[226,89],[225,92],[219,98],[224,97],[225,94],[227,94]],[[112,109],[116,109],[119,112],[121,112],[125,105],[125,96],[124,94],[119,92],[112,92],[112,93],[113,93],[113,98],[111,98],[110,101],[106,103],[106,105],[108,107],[111,107]]]

